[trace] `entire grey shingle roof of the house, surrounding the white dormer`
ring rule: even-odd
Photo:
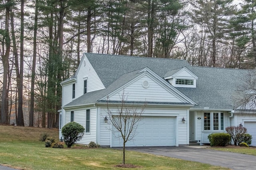
[[[229,68],[190,66],[187,61],[176,59],[94,53],[85,53],[85,55],[106,89],[86,93],[65,107],[97,102],[100,98],[138,76],[139,70],[145,67],[150,68],[161,77],[187,67],[198,76],[196,88],[177,87],[177,89],[198,104],[194,108],[235,109],[237,106],[234,105],[232,98],[241,78],[248,72],[248,70]]]

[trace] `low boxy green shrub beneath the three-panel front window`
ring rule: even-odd
[[[210,145],[212,147],[226,147],[231,140],[231,137],[227,133],[212,133],[208,135]]]

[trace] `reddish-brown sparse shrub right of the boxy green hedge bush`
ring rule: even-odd
[[[242,126],[230,126],[226,127],[226,131],[233,139],[234,145],[237,146],[239,144],[238,140],[246,133],[247,129]]]

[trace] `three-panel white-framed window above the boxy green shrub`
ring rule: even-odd
[[[204,113],[204,130],[224,130],[224,113]]]

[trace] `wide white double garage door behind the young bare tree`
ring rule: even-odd
[[[143,146],[175,146],[175,117],[144,116],[139,122],[136,135],[132,141],[127,141],[127,147]],[[112,147],[122,147],[120,133],[112,133]]]

